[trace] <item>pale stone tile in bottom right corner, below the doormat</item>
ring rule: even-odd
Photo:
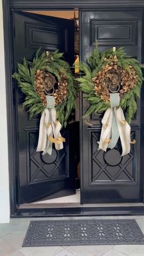
[[[144,255],[144,245],[132,244],[132,245],[120,245],[113,247],[118,252],[129,256],[143,256]],[[105,255],[104,255],[105,256]]]

